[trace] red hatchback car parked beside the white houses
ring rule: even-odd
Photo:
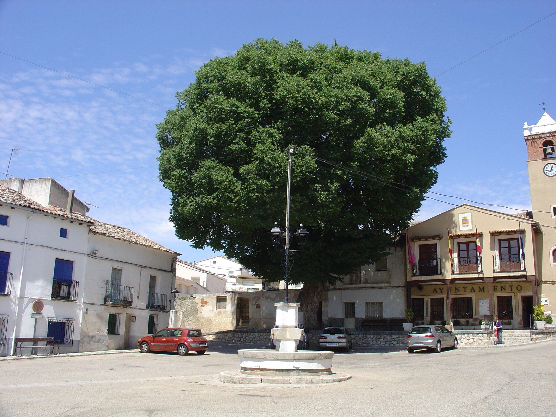
[[[200,329],[188,329],[185,327],[170,327],[157,331],[152,336],[141,337],[137,341],[137,347],[142,353],[152,351],[177,352],[179,355],[187,355],[190,351],[199,355],[209,349],[209,344],[203,337]]]

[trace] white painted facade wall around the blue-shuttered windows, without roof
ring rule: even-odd
[[[0,205],[0,214],[9,216],[8,226],[0,226],[0,251],[11,254],[8,272],[13,272],[11,295],[0,295],[0,314],[8,315],[7,343],[0,346],[0,355],[11,354],[14,326],[15,337],[33,336],[34,319],[31,313],[35,300],[44,303],[43,318],[37,319],[35,336],[46,337],[48,317],[74,320],[73,346],[62,347],[62,352],[66,353],[135,347],[137,339],[147,335],[150,314],[158,315],[158,329],[167,326],[167,312],[146,308],[148,286],[150,276],[156,276],[156,292],[166,294],[170,307],[175,255],[93,235],[87,224],[45,216],[41,212],[33,215],[30,210]],[[67,239],[59,237],[60,227],[68,230]],[[98,250],[97,255],[91,255],[92,250]],[[77,301],[51,299],[56,258],[73,261],[72,277],[74,281],[79,281]],[[122,285],[133,287],[131,307],[103,304],[106,281],[110,281],[112,267],[122,269]],[[121,315],[120,335],[107,335],[109,313]],[[124,340],[126,314],[135,317],[130,324],[129,340]],[[24,354],[28,353],[28,349],[24,350]]]

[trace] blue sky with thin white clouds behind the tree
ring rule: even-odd
[[[556,11],[554,2],[1,1],[0,51],[174,107],[194,70],[256,38],[298,39],[424,61],[439,75]],[[556,14],[437,82],[453,121],[433,191],[530,208],[523,122],[556,118]],[[0,54],[0,171],[57,179],[98,220],[201,260],[168,222],[156,123],[165,109]],[[127,171],[98,173],[103,171]],[[96,173],[95,175],[83,175]],[[459,200],[444,200],[459,203]],[[426,201],[425,220],[450,206]],[[512,210],[500,209],[512,212]],[[271,227],[269,220],[269,229]]]

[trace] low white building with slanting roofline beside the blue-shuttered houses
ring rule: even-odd
[[[176,289],[180,294],[215,294],[226,292],[226,278],[177,259]]]

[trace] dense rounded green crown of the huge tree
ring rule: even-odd
[[[285,221],[287,148],[295,148],[291,225],[306,225],[310,240],[291,279],[306,283],[307,302],[334,275],[385,254],[436,182],[450,135],[424,63],[336,43],[257,39],[204,64],[177,99],[157,132],[176,235],[279,280],[269,230]]]

